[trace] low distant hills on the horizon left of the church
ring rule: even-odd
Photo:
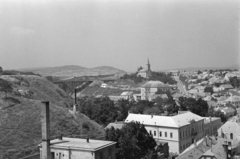
[[[43,76],[98,76],[108,74],[125,74],[126,72],[111,66],[99,66],[85,68],[77,65],[67,65],[59,67],[45,67],[36,69],[21,69],[21,71],[31,71]]]

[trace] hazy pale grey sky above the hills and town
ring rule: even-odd
[[[0,0],[3,69],[240,62],[238,0]]]

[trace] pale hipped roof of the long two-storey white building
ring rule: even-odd
[[[158,115],[144,115],[144,114],[129,114],[125,122],[140,122],[144,125],[175,127],[179,128],[190,124],[191,120],[199,121],[204,118],[187,112],[175,116],[158,116]]]

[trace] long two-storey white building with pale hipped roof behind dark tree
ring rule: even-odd
[[[168,142],[169,152],[181,153],[204,136],[204,118],[191,112],[176,116],[129,114],[126,123],[140,122],[157,141]]]

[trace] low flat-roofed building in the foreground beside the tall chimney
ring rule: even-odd
[[[115,159],[115,144],[113,141],[63,137],[50,141],[50,151],[53,159]],[[41,152],[41,144],[39,148]]]

